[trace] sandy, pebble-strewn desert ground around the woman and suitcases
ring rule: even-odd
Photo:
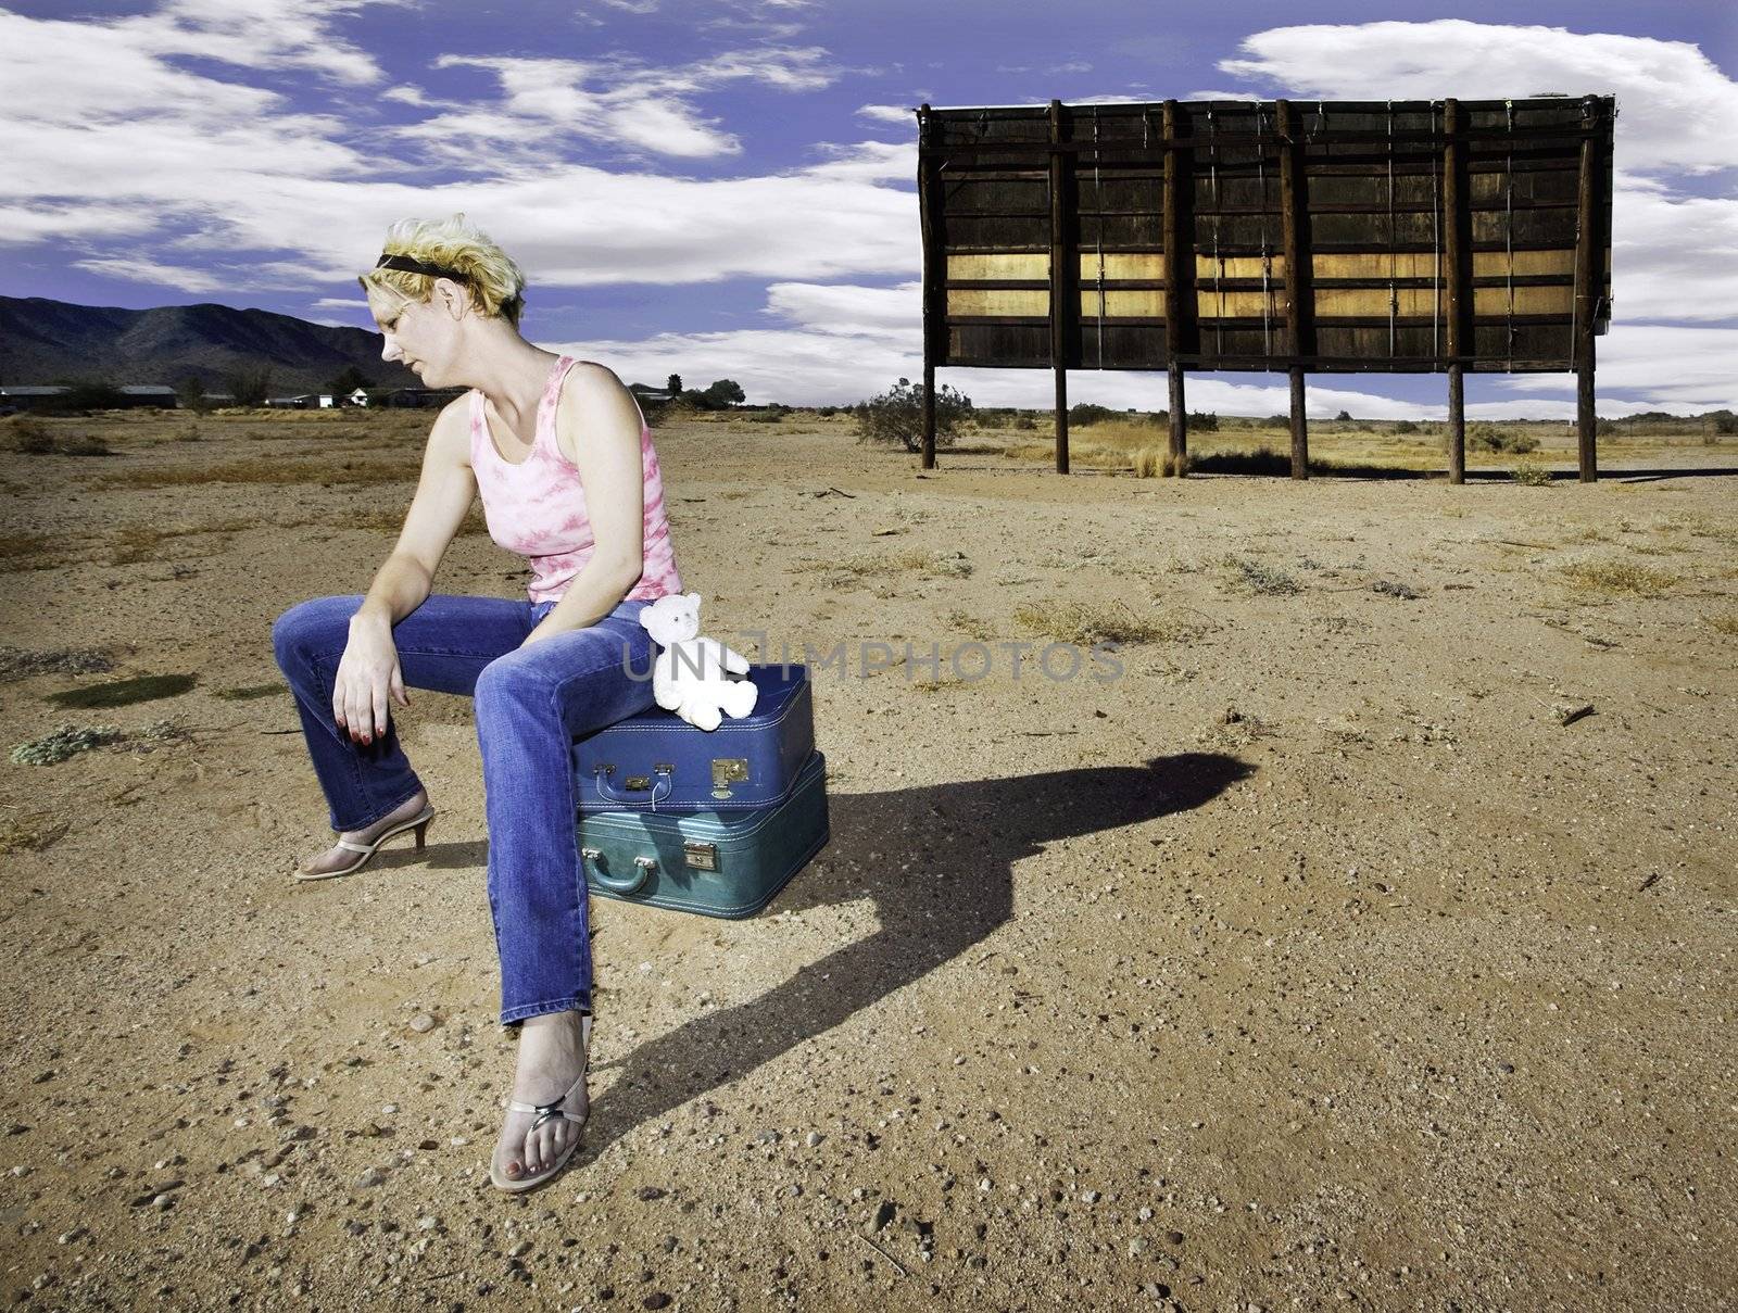
[[[365,587],[426,422],[70,419],[115,455],[0,455],[5,747],[122,735],[0,764],[0,1297],[1738,1299],[1738,445],[1453,488],[660,427],[707,632],[846,644],[833,841],[751,920],[593,901],[586,1146],[506,1198],[469,703],[403,716],[428,853],[289,879],[327,832],[269,625]],[[523,571],[471,531],[440,587]],[[1034,669],[1064,639],[1121,676]],[[942,665],[864,676],[907,641]],[[49,700],[137,676],[193,683]]]

